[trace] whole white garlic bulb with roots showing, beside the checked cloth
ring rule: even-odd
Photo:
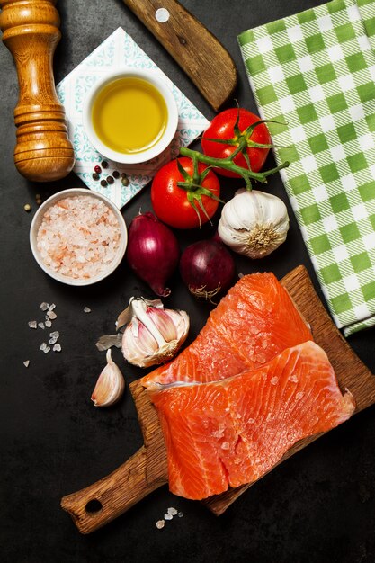
[[[224,205],[218,233],[238,254],[263,258],[284,242],[288,229],[288,210],[280,198],[244,188]]]

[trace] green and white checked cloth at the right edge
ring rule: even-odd
[[[335,324],[375,325],[375,0],[332,0],[239,37]]]

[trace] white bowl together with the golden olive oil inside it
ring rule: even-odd
[[[98,80],[87,94],[83,121],[91,144],[121,164],[160,155],[174,138],[174,94],[152,70],[122,68]]]

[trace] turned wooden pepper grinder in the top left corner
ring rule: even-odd
[[[53,77],[52,59],[61,37],[55,4],[56,0],[0,0],[0,28],[20,87],[14,109],[14,163],[34,182],[63,178],[75,161]]]

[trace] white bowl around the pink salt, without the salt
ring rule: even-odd
[[[69,277],[67,275],[63,275],[61,273],[56,272],[52,268],[49,267],[48,264],[45,264],[41,258],[40,251],[37,246],[37,237],[38,237],[38,230],[40,228],[41,221],[45,212],[49,209],[50,206],[54,205],[60,200],[63,200],[67,197],[74,197],[77,195],[85,195],[88,197],[92,197],[96,200],[103,201],[107,207],[112,210],[114,213],[115,218],[119,222],[120,227],[120,245],[117,249],[117,253],[110,264],[107,265],[106,269],[103,272],[94,275],[88,279],[76,279]],[[31,221],[31,228],[30,228],[30,244],[31,244],[31,251],[34,255],[35,260],[40,265],[40,268],[44,270],[45,273],[48,273],[51,278],[57,281],[61,281],[62,283],[67,283],[67,285],[91,285],[96,283],[97,281],[102,281],[104,278],[110,275],[117,266],[121,263],[123,256],[125,255],[126,246],[128,243],[128,230],[126,228],[125,220],[123,219],[120,210],[112,203],[112,201],[108,200],[108,198],[104,197],[101,193],[92,192],[90,190],[86,190],[85,188],[73,188],[70,190],[63,190],[62,192],[55,193],[48,200],[44,201],[40,208],[35,213],[32,221]]]

